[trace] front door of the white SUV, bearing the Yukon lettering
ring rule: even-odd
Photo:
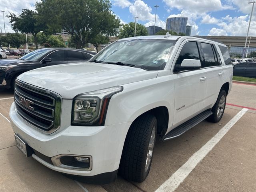
[[[200,60],[198,43],[188,41],[181,44],[175,62],[180,65],[184,59]],[[186,122],[202,112],[206,97],[206,72],[204,69],[176,72],[174,66],[175,108],[173,127]]]

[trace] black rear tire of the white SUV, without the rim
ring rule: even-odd
[[[221,115],[219,115],[220,110],[221,110],[219,104],[220,104],[220,100],[221,100],[221,98],[223,98],[223,96],[224,96],[224,98],[225,98],[225,100],[224,100],[224,106],[223,106],[223,110],[222,110]],[[216,101],[216,103],[214,104],[214,106],[213,106],[213,108],[212,108],[212,115],[209,116],[206,120],[208,120],[208,121],[210,121],[210,122],[214,122],[214,123],[219,122],[219,121],[221,120],[223,114],[224,114],[224,111],[225,111],[226,100],[227,100],[226,91],[222,89],[222,90],[220,90],[220,93],[219,93],[219,96],[218,96],[218,98],[217,98],[217,101]],[[221,103],[222,103],[222,102],[221,102]],[[219,110],[219,112],[218,112],[218,110]]]

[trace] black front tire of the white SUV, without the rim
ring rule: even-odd
[[[154,131],[154,133],[153,133]],[[152,137],[154,134],[154,139]],[[142,182],[148,176],[156,142],[157,120],[151,114],[142,114],[128,130],[119,166],[119,174],[131,181]],[[154,142],[152,142],[154,140]],[[150,162],[146,164],[151,141]],[[146,168],[147,165],[147,168]]]

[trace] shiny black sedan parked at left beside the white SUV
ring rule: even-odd
[[[20,74],[45,66],[88,61],[96,53],[69,48],[43,48],[30,52],[19,59],[0,61],[0,86],[14,88]]]

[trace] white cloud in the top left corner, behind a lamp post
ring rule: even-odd
[[[14,14],[20,14],[23,9],[30,9],[30,10],[35,10],[34,4],[36,3],[37,0],[0,0],[0,5],[1,5],[1,11],[5,11],[5,14],[9,14],[10,12]],[[4,21],[5,21],[5,28],[6,28],[6,33],[7,32],[13,32],[11,24],[9,23],[10,19],[7,17],[4,17],[3,20],[3,15],[2,12],[0,12],[0,28],[2,29],[2,32],[4,32]]]

